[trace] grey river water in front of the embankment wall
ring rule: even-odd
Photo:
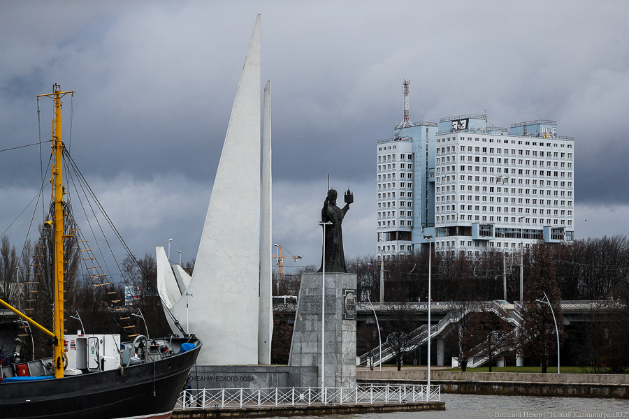
[[[326,419],[627,418],[624,399],[443,394],[445,411],[331,415]],[[280,418],[280,417],[278,417]],[[295,418],[295,417],[294,417]],[[312,419],[312,416],[296,418]]]

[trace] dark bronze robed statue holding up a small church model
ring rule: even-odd
[[[324,254],[321,256],[321,267],[318,272],[323,272],[324,263],[326,272],[347,272],[345,267],[345,253],[343,252],[343,231],[341,223],[345,213],[349,210],[349,204],[354,203],[354,195],[347,189],[345,193],[345,207],[336,205],[338,194],[334,189],[328,191],[328,197],[321,209],[321,222],[324,224]]]

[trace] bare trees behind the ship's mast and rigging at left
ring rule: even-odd
[[[54,249],[52,240],[45,238],[49,231],[40,228],[39,233],[43,240],[35,244],[27,242],[19,253],[15,246],[11,246],[8,237],[1,238],[0,298],[51,330]],[[171,333],[157,293],[157,264],[152,255],[147,254],[144,258],[127,256],[119,274],[108,274],[99,282],[94,279],[94,270],[89,268],[94,263],[88,265],[82,258],[74,237],[64,240],[64,259],[66,333],[72,334],[76,330],[116,333],[122,335],[123,340],[135,333],[150,332],[152,336]],[[125,286],[130,286],[132,293],[140,297],[125,302]],[[124,323],[121,318],[126,319]],[[20,337],[22,359],[50,355],[50,339],[41,332],[25,327],[20,321],[5,324],[3,328],[15,329]],[[13,356],[13,345],[13,339],[0,342],[2,358]]]

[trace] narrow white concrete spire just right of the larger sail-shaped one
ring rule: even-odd
[[[270,365],[271,338],[273,336],[273,262],[271,249],[272,223],[272,171],[271,171],[271,108],[270,80],[264,87],[262,123],[262,230],[260,241],[260,314],[258,321],[258,363]]]

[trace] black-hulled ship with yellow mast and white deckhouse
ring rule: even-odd
[[[128,342],[121,342],[120,335],[82,331],[68,335],[64,330],[67,263],[64,240],[73,236],[64,230],[70,215],[64,201],[66,149],[62,141],[61,108],[62,98],[74,91],[62,91],[59,84],[54,84],[52,90],[52,94],[38,96],[52,98],[55,103],[51,218],[43,224],[50,231],[48,241],[53,253],[52,328],[40,325],[9,302],[0,300],[1,306],[18,316],[20,322],[38,330],[39,335],[51,342],[52,356],[0,367],[0,418],[168,419],[196,364],[202,347],[200,339],[182,328],[181,336],[152,339],[148,333],[136,334]],[[126,312],[124,306],[116,310]]]

